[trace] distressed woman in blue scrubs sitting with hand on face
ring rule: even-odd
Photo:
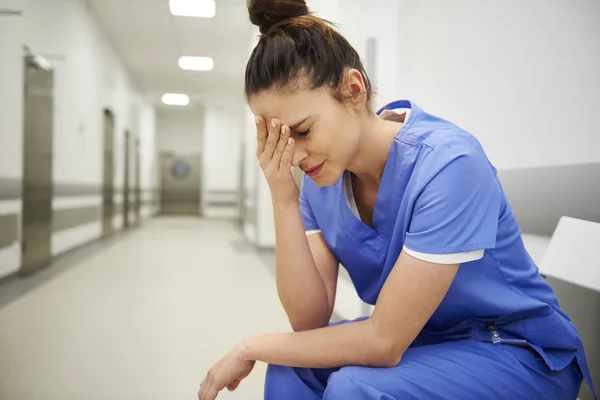
[[[581,340],[478,141],[409,101],[372,112],[358,54],[304,1],[249,12],[262,36],[246,95],[294,332],[244,340],[199,399],[257,360],[267,399],[575,399],[591,384]],[[369,318],[328,324],[338,263]]]

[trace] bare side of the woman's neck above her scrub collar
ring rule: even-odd
[[[376,189],[381,182],[383,169],[396,134],[403,123],[371,116],[361,128],[358,150],[348,170],[361,184]]]

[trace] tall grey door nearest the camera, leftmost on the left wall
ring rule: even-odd
[[[40,60],[29,55],[24,60],[21,275],[52,257],[54,73]]]

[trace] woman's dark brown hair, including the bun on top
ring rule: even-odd
[[[358,53],[304,0],[249,0],[248,12],[261,36],[246,66],[246,99],[271,88],[288,89],[304,78],[311,89],[327,85],[342,100],[344,72],[354,68],[363,75],[369,104],[371,84]]]

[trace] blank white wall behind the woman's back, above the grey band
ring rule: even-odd
[[[600,161],[600,2],[403,1],[399,96],[501,169]]]

